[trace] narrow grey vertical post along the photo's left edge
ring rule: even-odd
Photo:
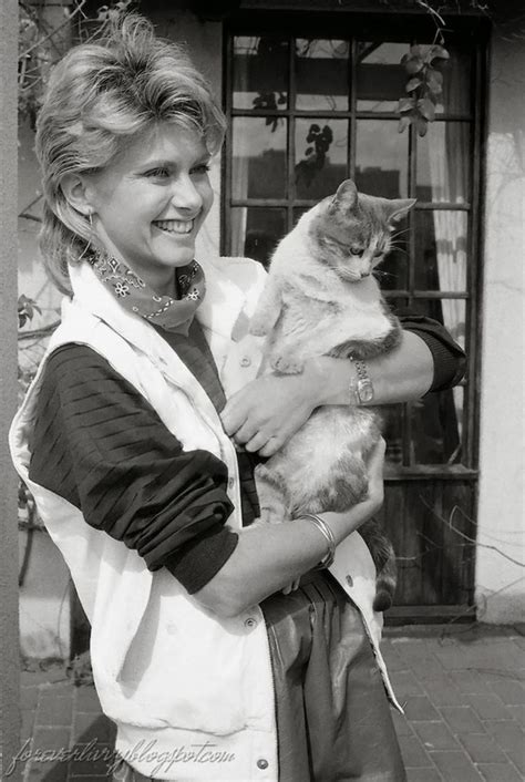
[[[17,479],[8,426],[17,409],[17,42],[18,3],[0,3],[0,742],[4,762],[20,738]],[[11,779],[19,779],[16,773]]]

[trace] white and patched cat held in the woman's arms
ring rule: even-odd
[[[315,356],[367,360],[399,343],[399,320],[372,270],[391,247],[393,227],[414,203],[358,193],[346,179],[334,196],[302,215],[272,255],[250,320],[250,333],[266,337],[265,368],[298,373]],[[359,503],[368,492],[367,459],[380,436],[377,408],[318,408],[256,467],[261,519],[278,523]],[[397,582],[392,545],[377,519],[359,532],[377,568],[373,608],[385,610]]]

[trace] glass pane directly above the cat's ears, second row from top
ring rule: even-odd
[[[358,120],[356,183],[362,193],[406,198],[409,134],[388,120]]]

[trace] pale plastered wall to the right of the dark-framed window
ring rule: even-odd
[[[496,29],[488,105],[476,564],[478,617],[487,622],[525,620],[524,95],[525,32],[511,37]]]

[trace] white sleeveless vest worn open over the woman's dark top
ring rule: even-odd
[[[260,364],[260,340],[234,341],[231,335],[248,322],[266,272],[244,258],[208,259],[203,267],[206,297],[197,317],[229,397]],[[185,450],[205,449],[225,462],[236,508],[228,525],[241,526],[235,449],[204,389],[147,322],[119,306],[87,264],[71,277],[74,298],[63,302],[62,323],[13,421],[10,446],[90,619],[93,676],[103,711],[117,724],[116,749],[158,779],[276,782],[274,686],[260,608],[217,617],[165,568],[151,573],[135,551],[90,527],[76,507],[28,477],[47,358],[61,344],[79,342],[136,388]],[[387,690],[400,708],[379,650],[374,567],[358,533],[338,546],[331,572],[360,609]]]

